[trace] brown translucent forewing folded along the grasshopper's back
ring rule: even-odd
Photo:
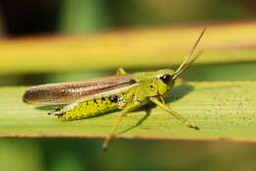
[[[78,83],[36,85],[24,94],[24,101],[36,104],[67,104],[79,98],[135,84],[132,75],[111,76]]]

